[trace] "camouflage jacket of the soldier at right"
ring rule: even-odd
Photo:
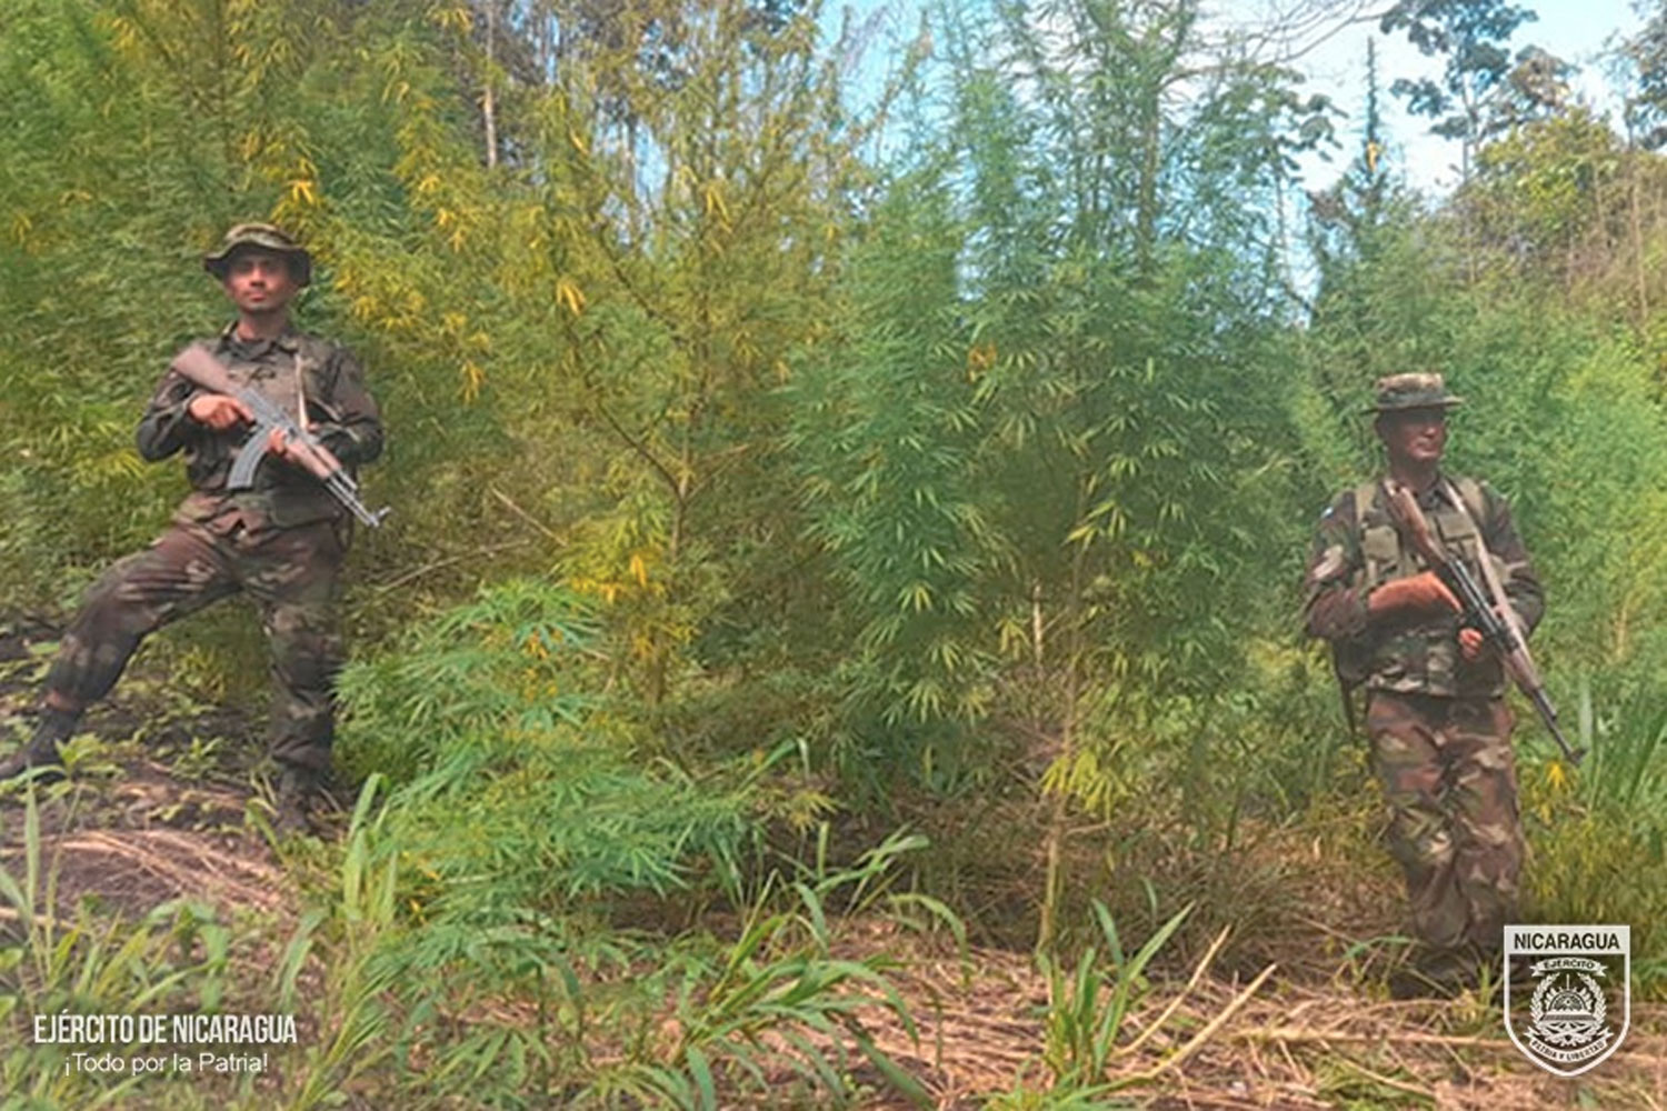
[[[1449,501],[1445,486],[1459,491]],[[1370,488],[1370,500],[1355,505],[1359,490],[1339,495],[1320,516],[1305,578],[1304,615],[1310,636],[1322,636],[1337,653],[1339,675],[1369,690],[1444,695],[1497,696],[1505,690],[1499,656],[1484,651],[1475,661],[1459,653],[1459,615],[1384,613],[1370,616],[1369,595],[1384,583],[1427,570],[1389,516],[1384,485]],[[1450,551],[1470,565],[1479,583],[1480,548],[1475,530],[1494,558],[1494,568],[1524,633],[1539,625],[1545,596],[1529,553],[1510,520],[1510,506],[1485,483],[1444,476],[1419,495],[1419,506]],[[1472,528],[1470,521],[1475,521]]]

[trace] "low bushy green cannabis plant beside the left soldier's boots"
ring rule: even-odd
[[[437,884],[423,913],[490,924],[580,894],[665,893],[690,856],[733,873],[743,790],[633,761],[585,693],[603,670],[595,635],[572,591],[510,581],[343,676],[347,760],[407,780],[392,821]]]

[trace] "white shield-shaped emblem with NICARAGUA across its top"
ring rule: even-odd
[[[1630,926],[1505,926],[1505,1029],[1522,1054],[1579,1076],[1632,1024]]]

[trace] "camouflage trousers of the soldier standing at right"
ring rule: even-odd
[[[1522,871],[1510,708],[1372,691],[1365,725],[1414,931],[1435,949],[1497,951]]]

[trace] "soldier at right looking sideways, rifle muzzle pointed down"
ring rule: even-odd
[[[1395,375],[1377,383],[1367,411],[1377,415],[1389,476],[1415,495],[1434,533],[1474,573],[1480,560],[1494,561],[1527,635],[1544,595],[1510,506],[1487,485],[1440,470],[1447,410],[1459,403],[1440,375]],[[1414,971],[1392,986],[1400,994],[1454,989],[1497,959],[1522,869],[1504,668],[1477,630],[1460,626],[1459,600],[1395,528],[1382,480],[1325,510],[1305,593],[1309,635],[1332,643],[1345,685],[1367,690],[1389,848],[1422,943]]]

